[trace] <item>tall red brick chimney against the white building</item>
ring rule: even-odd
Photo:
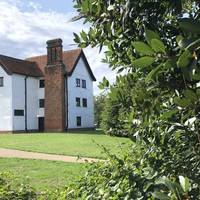
[[[47,41],[45,67],[45,131],[64,131],[65,119],[65,67],[62,62],[62,40]]]

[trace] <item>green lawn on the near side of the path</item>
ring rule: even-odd
[[[11,172],[17,182],[28,182],[39,191],[63,187],[83,175],[86,168],[85,164],[0,158],[0,171]]]

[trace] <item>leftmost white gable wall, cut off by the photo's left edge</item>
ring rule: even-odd
[[[0,66],[0,77],[4,77],[4,86],[0,87],[0,131],[12,131],[12,76]]]

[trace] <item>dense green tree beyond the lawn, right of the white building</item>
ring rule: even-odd
[[[106,86],[106,82],[106,79],[104,79],[100,86]],[[101,122],[101,128],[106,134],[115,136],[129,135],[127,116],[131,112],[132,97],[130,91],[133,85],[134,81],[131,74],[118,77],[113,85],[107,84],[109,92],[104,104]]]

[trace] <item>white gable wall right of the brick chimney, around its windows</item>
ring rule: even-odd
[[[86,80],[86,88],[76,87],[76,78]],[[81,98],[81,107],[76,107],[76,97]],[[87,98],[86,108],[82,106],[82,98]],[[77,127],[77,116],[81,116],[81,127]],[[69,129],[94,127],[93,81],[82,58],[68,77],[68,118]]]

